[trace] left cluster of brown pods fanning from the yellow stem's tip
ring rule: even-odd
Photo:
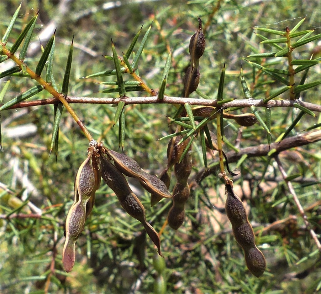
[[[111,163],[111,160],[114,164]],[[116,194],[121,206],[132,217],[143,224],[148,236],[160,252],[160,238],[154,228],[147,222],[144,206],[130,189],[124,175],[140,181],[143,188],[156,197],[172,198],[166,185],[156,176],[146,173],[139,164],[125,154],[117,153],[98,144],[90,142],[88,156],[78,169],[74,182],[74,203],[65,222],[65,246],[63,265],[70,272],[75,262],[75,243],[80,237],[85,221],[95,202],[95,192],[100,186],[100,178]]]

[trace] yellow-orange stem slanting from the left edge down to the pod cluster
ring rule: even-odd
[[[24,66],[25,70],[27,71],[27,73],[29,73],[31,79],[36,80],[40,85],[44,86],[45,90],[48,91],[53,97],[55,97],[55,98],[57,98],[57,99],[59,99],[61,101],[61,103],[65,106],[66,110],[71,114],[71,116],[77,122],[79,127],[82,129],[82,131],[85,134],[86,138],[89,141],[91,141],[92,140],[91,134],[89,133],[89,131],[87,130],[85,125],[82,123],[82,121],[79,119],[78,115],[71,108],[69,103],[66,101],[64,95],[62,95],[61,93],[58,93],[52,87],[52,85],[50,83],[46,82],[40,76],[36,75],[36,73],[34,71],[32,71],[28,66],[23,64],[23,62],[17,56],[15,56],[14,54],[11,54],[10,51],[5,48],[4,44],[2,44],[2,45],[3,45],[2,52],[5,55],[7,55],[11,60],[13,60],[13,62],[15,62],[20,68],[22,68],[22,66]]]

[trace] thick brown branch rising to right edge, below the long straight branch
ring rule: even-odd
[[[232,162],[237,162],[245,154],[247,155],[247,157],[266,156],[271,150],[275,149],[275,153],[273,154],[274,156],[280,153],[281,151],[288,150],[294,147],[307,145],[320,140],[321,140],[321,130],[311,130],[309,132],[305,132],[297,136],[285,138],[281,142],[272,143],[270,146],[268,144],[260,144],[253,147],[242,148],[239,150],[239,152],[230,151],[226,153],[226,157],[228,158],[228,161],[230,164]],[[205,168],[202,168],[194,176],[194,178],[197,183],[200,183],[208,175],[216,174],[217,172],[218,172],[217,166],[210,167],[207,170],[205,170]]]

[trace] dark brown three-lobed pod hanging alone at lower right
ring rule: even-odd
[[[255,245],[254,232],[242,201],[234,193],[231,185],[226,184],[225,190],[227,194],[225,210],[232,224],[234,237],[244,250],[248,270],[256,277],[260,277],[265,271],[265,257]]]

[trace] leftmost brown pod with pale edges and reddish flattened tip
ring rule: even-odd
[[[74,182],[74,203],[65,222],[65,245],[63,265],[70,272],[75,262],[75,243],[81,235],[87,216],[95,202],[95,192],[100,186],[100,170],[97,162],[96,148],[88,148],[88,156],[81,164]]]

